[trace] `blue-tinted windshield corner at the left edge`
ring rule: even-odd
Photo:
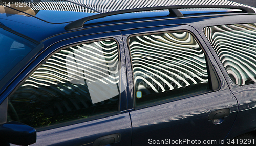
[[[0,80],[37,45],[0,28]]]

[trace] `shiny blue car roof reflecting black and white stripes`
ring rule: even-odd
[[[38,42],[54,36],[68,32],[65,30],[65,26],[72,21],[97,15],[100,13],[112,12],[123,9],[131,9],[136,7],[149,7],[149,6],[162,6],[172,5],[174,1],[161,1],[161,3],[154,4],[152,1],[140,0],[140,3],[144,3],[143,6],[132,5],[132,1],[81,1],[80,4],[75,1],[48,1],[40,0],[34,1],[30,7],[30,11],[21,11],[17,8],[5,7],[5,12],[0,13],[0,23],[11,28],[18,33],[24,34]],[[104,3],[103,3],[104,2]],[[114,3],[116,2],[116,3]],[[168,2],[168,3],[167,3]],[[192,2],[192,0],[191,0]],[[176,3],[182,4],[182,3]],[[189,3],[196,4],[196,3]],[[205,3],[207,4],[207,3]],[[220,4],[220,3],[219,3]],[[228,3],[231,4],[231,3]],[[232,5],[238,5],[232,2]],[[56,7],[57,6],[57,7]],[[240,6],[245,6],[240,4]],[[3,6],[2,6],[3,7]],[[7,11],[8,10],[8,11]],[[209,14],[227,14],[228,11],[234,11],[233,9],[180,9],[180,12],[185,16],[207,16]],[[139,13],[126,13],[115,16],[109,16],[105,18],[95,19],[87,22],[86,26],[100,26],[105,24],[113,24],[118,22],[132,22],[141,20],[154,20],[161,19],[168,15],[168,11],[146,11]],[[166,15],[167,14],[167,15]],[[172,16],[169,16],[172,17]],[[38,35],[40,34],[40,35]]]

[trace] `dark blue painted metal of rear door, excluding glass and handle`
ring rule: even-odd
[[[193,28],[188,26],[155,28],[156,32],[172,30],[189,30],[197,34]],[[136,30],[133,34],[150,32],[151,29],[145,28]],[[128,34],[129,31],[122,32],[122,34],[125,33]],[[196,38],[201,41],[200,37],[196,36]],[[200,44],[206,53],[209,53],[205,44]],[[216,66],[214,61],[212,64]],[[218,67],[217,72],[220,72]],[[236,98],[228,89],[223,76],[220,74],[219,77],[222,83],[219,91],[131,111],[133,127],[132,145],[146,145],[149,142],[148,139],[165,140],[167,138],[178,140],[179,138],[184,138],[201,141],[224,139],[236,118],[238,107]],[[131,99],[136,98],[134,97],[133,89],[129,93],[131,93]],[[224,118],[221,124],[215,125],[212,121],[208,120],[209,113],[225,108],[229,108],[231,114]],[[221,132],[219,133],[219,131]],[[219,145],[219,143],[213,145]]]

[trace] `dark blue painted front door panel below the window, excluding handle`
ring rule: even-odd
[[[131,131],[129,114],[124,113],[37,132],[34,145],[93,145],[97,138],[115,133],[122,136],[121,141],[115,145],[131,145]]]

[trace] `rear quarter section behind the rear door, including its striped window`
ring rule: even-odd
[[[251,17],[241,17],[244,19],[241,19],[241,22],[231,21],[225,25],[211,23],[213,26],[203,29],[205,38],[209,40],[207,41],[209,48],[215,55],[228,80],[231,91],[239,103],[237,120],[228,138],[254,131],[256,124],[256,94],[254,90],[256,82],[256,26]],[[246,140],[239,141],[240,144],[248,144],[249,140],[252,140],[252,144],[254,144],[254,139],[242,136],[241,138]]]

